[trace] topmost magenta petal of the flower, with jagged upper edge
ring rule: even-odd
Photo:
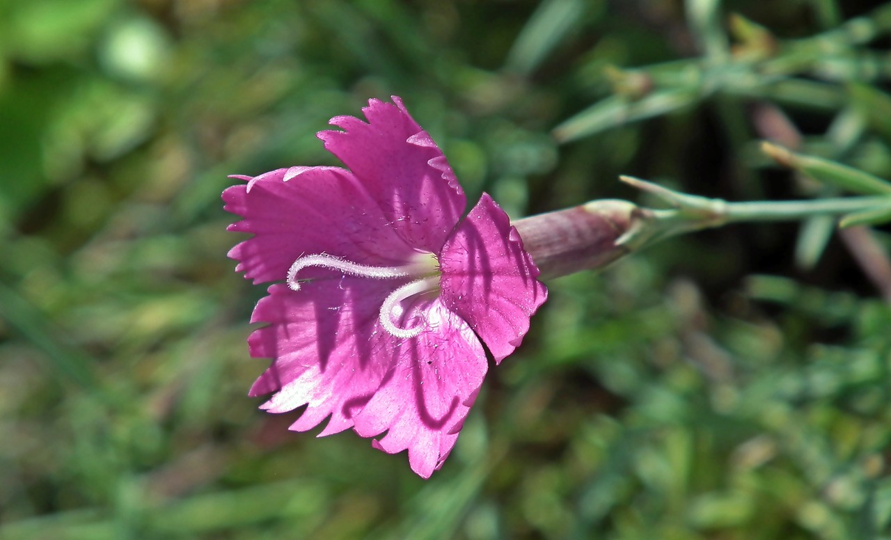
[[[467,205],[461,185],[430,135],[394,96],[370,100],[360,119],[341,116],[344,131],[318,134],[353,171],[398,234],[418,250],[437,253]]]

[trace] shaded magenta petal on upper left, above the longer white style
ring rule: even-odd
[[[415,253],[356,177],[342,168],[280,168],[226,189],[223,200],[227,211],[244,218],[229,230],[254,234],[229,257],[239,261],[236,271],[255,283],[284,281],[303,255],[327,253],[394,266]]]

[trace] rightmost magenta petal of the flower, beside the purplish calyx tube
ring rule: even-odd
[[[519,347],[547,289],[517,229],[487,193],[446,241],[439,266],[443,304],[470,323],[501,362]]]

